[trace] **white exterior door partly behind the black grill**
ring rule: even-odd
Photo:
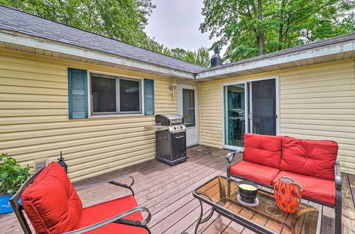
[[[197,86],[178,84],[178,115],[184,118],[187,146],[199,143],[198,113]]]

